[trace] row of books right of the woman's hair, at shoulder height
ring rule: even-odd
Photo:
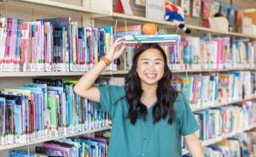
[[[175,75],[172,85],[188,98],[192,109],[256,97],[256,73],[230,71]]]

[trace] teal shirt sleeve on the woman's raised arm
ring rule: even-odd
[[[125,97],[125,87],[104,85],[98,87],[98,89],[100,91],[100,108],[113,116],[116,103],[119,99]]]

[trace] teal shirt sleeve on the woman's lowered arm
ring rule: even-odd
[[[195,115],[189,107],[189,102],[184,98],[183,94],[179,93],[177,96],[177,121],[179,131],[182,136],[187,136],[199,130],[199,125],[195,120]]]

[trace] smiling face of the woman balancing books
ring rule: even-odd
[[[149,48],[137,60],[137,75],[143,85],[157,85],[164,75],[164,57],[158,49]]]

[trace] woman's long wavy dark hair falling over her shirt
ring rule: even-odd
[[[172,72],[168,68],[166,53],[160,48],[156,43],[143,44],[137,49],[132,59],[131,70],[125,77],[125,91],[126,99],[128,102],[129,112],[127,118],[131,120],[131,124],[135,125],[137,118],[143,118],[147,113],[147,107],[140,102],[140,98],[143,95],[143,89],[141,87],[141,80],[137,76],[137,61],[139,56],[149,48],[154,48],[160,51],[164,57],[164,75],[158,81],[158,88],[156,91],[157,103],[153,108],[153,121],[154,123],[160,121],[160,119],[165,119],[166,115],[169,115],[168,123],[172,124],[175,118],[175,111],[173,109],[174,102],[177,98],[177,91],[172,87]]]

